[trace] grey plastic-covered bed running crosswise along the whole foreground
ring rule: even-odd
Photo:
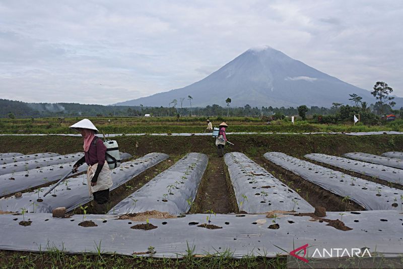
[[[3,214],[0,215],[0,249],[59,249],[68,253],[95,251],[173,258],[226,252],[239,258],[245,255],[287,255],[308,244],[307,257],[311,257],[315,248],[320,249],[320,253],[323,248],[329,252],[334,248],[347,248],[350,253],[351,248],[358,248],[362,251],[368,249],[373,255],[375,252],[388,257],[401,255],[403,218],[400,212],[326,213],[323,218],[281,213],[276,216],[269,214],[270,218],[265,214],[212,215],[210,227],[219,227],[217,229],[205,228],[208,227],[206,214],[189,214],[174,219],[150,218],[148,222],[119,220],[114,215],[74,215],[62,219],[52,218],[46,213]],[[30,225],[19,224],[24,220],[30,221]],[[96,226],[79,226],[83,222],[93,222]],[[148,226],[153,229],[136,229],[148,229]],[[275,227],[278,229],[273,229]]]

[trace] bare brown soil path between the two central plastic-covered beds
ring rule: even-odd
[[[230,181],[227,180],[227,166],[223,158],[209,156],[209,164],[201,180],[191,212],[215,213],[237,212],[235,194]]]

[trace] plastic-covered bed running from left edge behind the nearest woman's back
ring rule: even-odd
[[[128,153],[120,153],[120,159],[131,158]],[[78,160],[78,158],[77,158]],[[65,174],[69,173],[72,169],[74,162],[65,163],[62,165],[53,165],[43,168],[37,168],[17,173],[10,173],[0,176],[0,196],[24,191],[44,184],[50,184],[54,181],[61,179]],[[87,164],[83,164],[78,169],[78,174],[87,171]],[[70,177],[73,177],[71,174]]]

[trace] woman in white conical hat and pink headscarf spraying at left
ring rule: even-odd
[[[88,119],[70,126],[84,138],[84,156],[73,166],[74,173],[78,167],[87,163],[87,183],[90,195],[94,196],[98,213],[106,211],[109,200],[109,188],[112,187],[112,177],[109,166],[105,163],[106,147],[102,140],[95,136],[98,129]]]

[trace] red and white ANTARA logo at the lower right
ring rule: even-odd
[[[291,256],[296,257],[297,259],[300,259],[304,262],[308,262],[308,259],[305,258],[306,255],[306,249],[308,248],[308,244],[303,245],[302,247],[296,248],[293,251],[290,252]],[[315,248],[312,254],[312,258],[324,258],[324,257],[364,257],[365,255],[368,255],[368,257],[372,257],[371,253],[369,252],[368,248],[363,248],[364,251],[360,248],[330,248],[327,250],[326,248],[323,248],[322,251],[320,251],[318,248]],[[300,251],[304,250],[304,254],[302,256],[299,256],[297,253]]]

